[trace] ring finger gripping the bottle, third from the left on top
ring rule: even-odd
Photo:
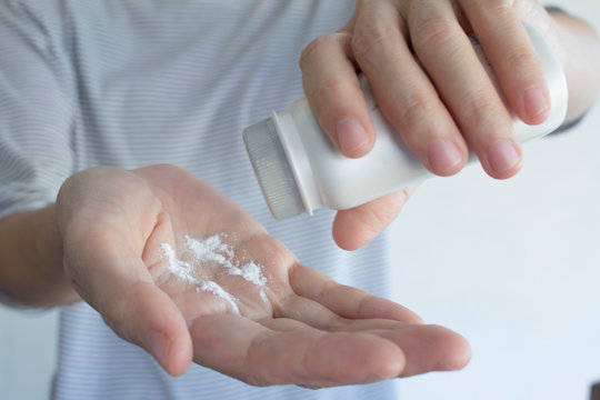
[[[521,167],[512,120],[452,7],[422,2],[407,10],[407,21],[419,59],[483,169],[512,177]]]

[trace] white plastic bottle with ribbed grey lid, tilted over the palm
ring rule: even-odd
[[[514,134],[520,142],[557,129],[567,113],[567,82],[562,66],[546,39],[524,24],[543,66],[551,110],[539,126],[528,126],[513,116]],[[477,40],[473,47],[494,81]],[[370,90],[363,91],[377,131],[372,150],[359,159],[342,156],[321,130],[304,97],[281,113],[243,131],[246,148],[262,193],[276,219],[293,217],[322,207],[349,209],[433,174],[402,142],[383,119]],[[471,153],[469,162],[476,160]]]

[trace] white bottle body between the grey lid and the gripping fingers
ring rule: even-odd
[[[372,150],[359,159],[342,156],[320,129],[306,98],[278,116],[288,159],[298,181],[304,209],[349,209],[416,183],[430,172],[402,142],[377,107],[370,110],[377,131]],[[292,127],[293,126],[293,127]],[[299,149],[303,149],[299,150]]]

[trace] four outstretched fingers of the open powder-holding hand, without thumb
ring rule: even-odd
[[[470,358],[459,334],[422,326],[391,301],[301,264],[289,280],[292,291],[273,306],[276,318],[197,318],[194,361],[250,384],[317,388],[458,369]]]

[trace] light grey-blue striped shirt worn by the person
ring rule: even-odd
[[[341,27],[350,0],[3,0],[0,2],[0,218],[53,202],[94,166],[178,164],[253,214],[298,258],[387,296],[386,239],[356,252],[333,213],[274,221],[241,141],[301,94],[298,58]],[[84,303],[60,320],[54,399],[396,399],[392,381],[253,388],[192,364],[169,377]]]

